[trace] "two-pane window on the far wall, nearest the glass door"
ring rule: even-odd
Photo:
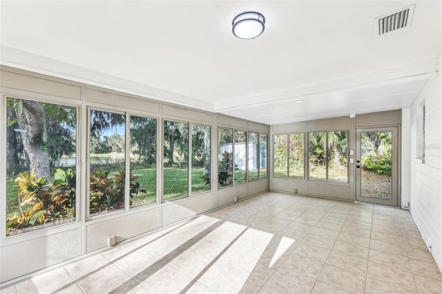
[[[348,131],[309,133],[309,179],[347,182]]]

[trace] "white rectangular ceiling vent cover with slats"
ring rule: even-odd
[[[387,32],[411,26],[414,6],[415,4],[375,19],[376,35],[384,35]]]

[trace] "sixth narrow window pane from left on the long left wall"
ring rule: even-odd
[[[218,128],[218,188],[233,184],[233,130]]]

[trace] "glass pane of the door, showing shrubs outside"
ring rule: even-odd
[[[361,132],[361,196],[392,199],[392,132]]]

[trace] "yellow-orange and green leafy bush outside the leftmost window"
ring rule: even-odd
[[[15,186],[20,212],[8,217],[6,235],[75,216],[75,172],[70,168],[66,172],[57,169],[54,178],[50,183],[44,177],[36,177],[34,170],[30,174],[19,173]]]

